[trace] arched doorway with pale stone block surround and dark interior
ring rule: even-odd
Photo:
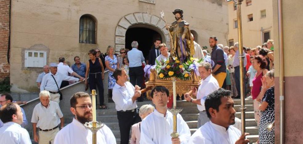
[[[128,14],[120,19],[115,31],[115,49],[131,49],[131,42],[138,41],[139,50],[142,50],[147,59],[148,52],[153,45],[154,38],[160,38],[170,48],[168,31],[165,22],[156,15],[148,13]]]

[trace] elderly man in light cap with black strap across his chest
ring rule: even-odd
[[[49,65],[51,67],[51,72],[46,74],[42,78],[40,91],[47,90],[51,93],[50,100],[55,101],[57,103],[60,102],[60,94],[59,94],[59,86],[62,81],[82,81],[83,78],[74,78],[70,76],[63,75],[57,72],[58,65],[56,63],[51,63]]]

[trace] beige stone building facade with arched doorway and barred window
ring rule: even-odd
[[[225,0],[12,0],[10,81],[12,92],[38,91],[35,80],[41,66],[58,62],[59,57],[74,63],[79,56],[87,62],[87,52],[108,45],[131,49],[138,40],[145,57],[160,37],[169,46],[167,23],[175,21],[172,11],[184,10],[184,20],[196,42],[208,46],[208,38],[227,44],[228,8]],[[92,28],[93,27],[93,28]]]

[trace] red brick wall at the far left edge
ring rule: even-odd
[[[0,80],[10,76],[7,49],[10,29],[10,0],[0,0]]]

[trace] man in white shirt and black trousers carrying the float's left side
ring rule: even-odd
[[[133,86],[127,82],[128,76],[125,70],[116,69],[113,76],[116,79],[113,101],[117,110],[121,144],[128,144],[131,126],[141,121],[136,102],[136,99],[141,96],[141,91],[139,86]]]

